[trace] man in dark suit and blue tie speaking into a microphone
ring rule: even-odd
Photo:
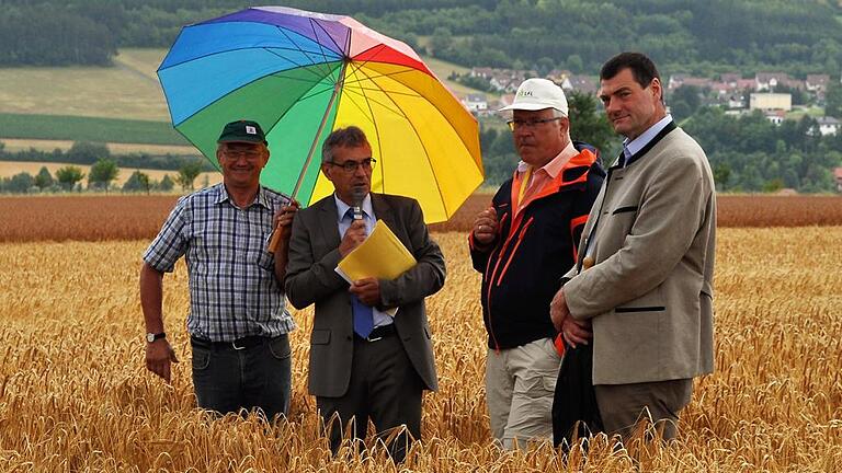
[[[339,448],[349,423],[351,439],[364,439],[371,418],[378,438],[396,434],[388,447],[399,462],[410,441],[407,434],[421,438],[422,392],[437,388],[424,298],[442,288],[445,268],[419,204],[371,193],[375,163],[360,128],[327,137],[321,172],[335,192],[295,218],[286,293],[298,309],[316,304],[308,389],[331,450]],[[349,286],[334,269],[378,219],[418,264],[394,280],[364,278]]]

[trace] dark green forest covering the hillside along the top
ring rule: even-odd
[[[594,73],[619,50],[697,74],[838,74],[839,0],[289,0],[350,14],[463,66]],[[168,47],[235,0],[0,0],[0,65],[106,65],[118,47]]]

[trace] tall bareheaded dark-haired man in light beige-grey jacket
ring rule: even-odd
[[[570,345],[593,343],[605,429],[628,438],[649,416],[671,439],[693,378],[714,369],[713,174],[698,143],[667,114],[649,58],[610,59],[600,99],[626,139],[550,316]]]

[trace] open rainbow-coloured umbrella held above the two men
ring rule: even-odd
[[[174,127],[212,163],[223,126],[253,119],[272,158],[261,183],[307,205],[333,188],[321,143],[356,125],[375,192],[450,218],[482,183],[476,118],[406,44],[349,16],[250,8],[185,26],[158,69]]]

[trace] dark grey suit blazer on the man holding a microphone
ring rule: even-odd
[[[418,259],[418,265],[397,279],[380,280],[385,308],[400,308],[395,328],[412,366],[426,389],[437,381],[424,298],[444,285],[444,257],[430,239],[421,207],[413,199],[372,193],[375,217]],[[340,234],[333,195],[300,210],[293,221],[285,290],[297,309],[316,304],[310,334],[308,390],[317,396],[345,394],[351,379],[354,332],[348,282],[333,269],[341,259]]]

